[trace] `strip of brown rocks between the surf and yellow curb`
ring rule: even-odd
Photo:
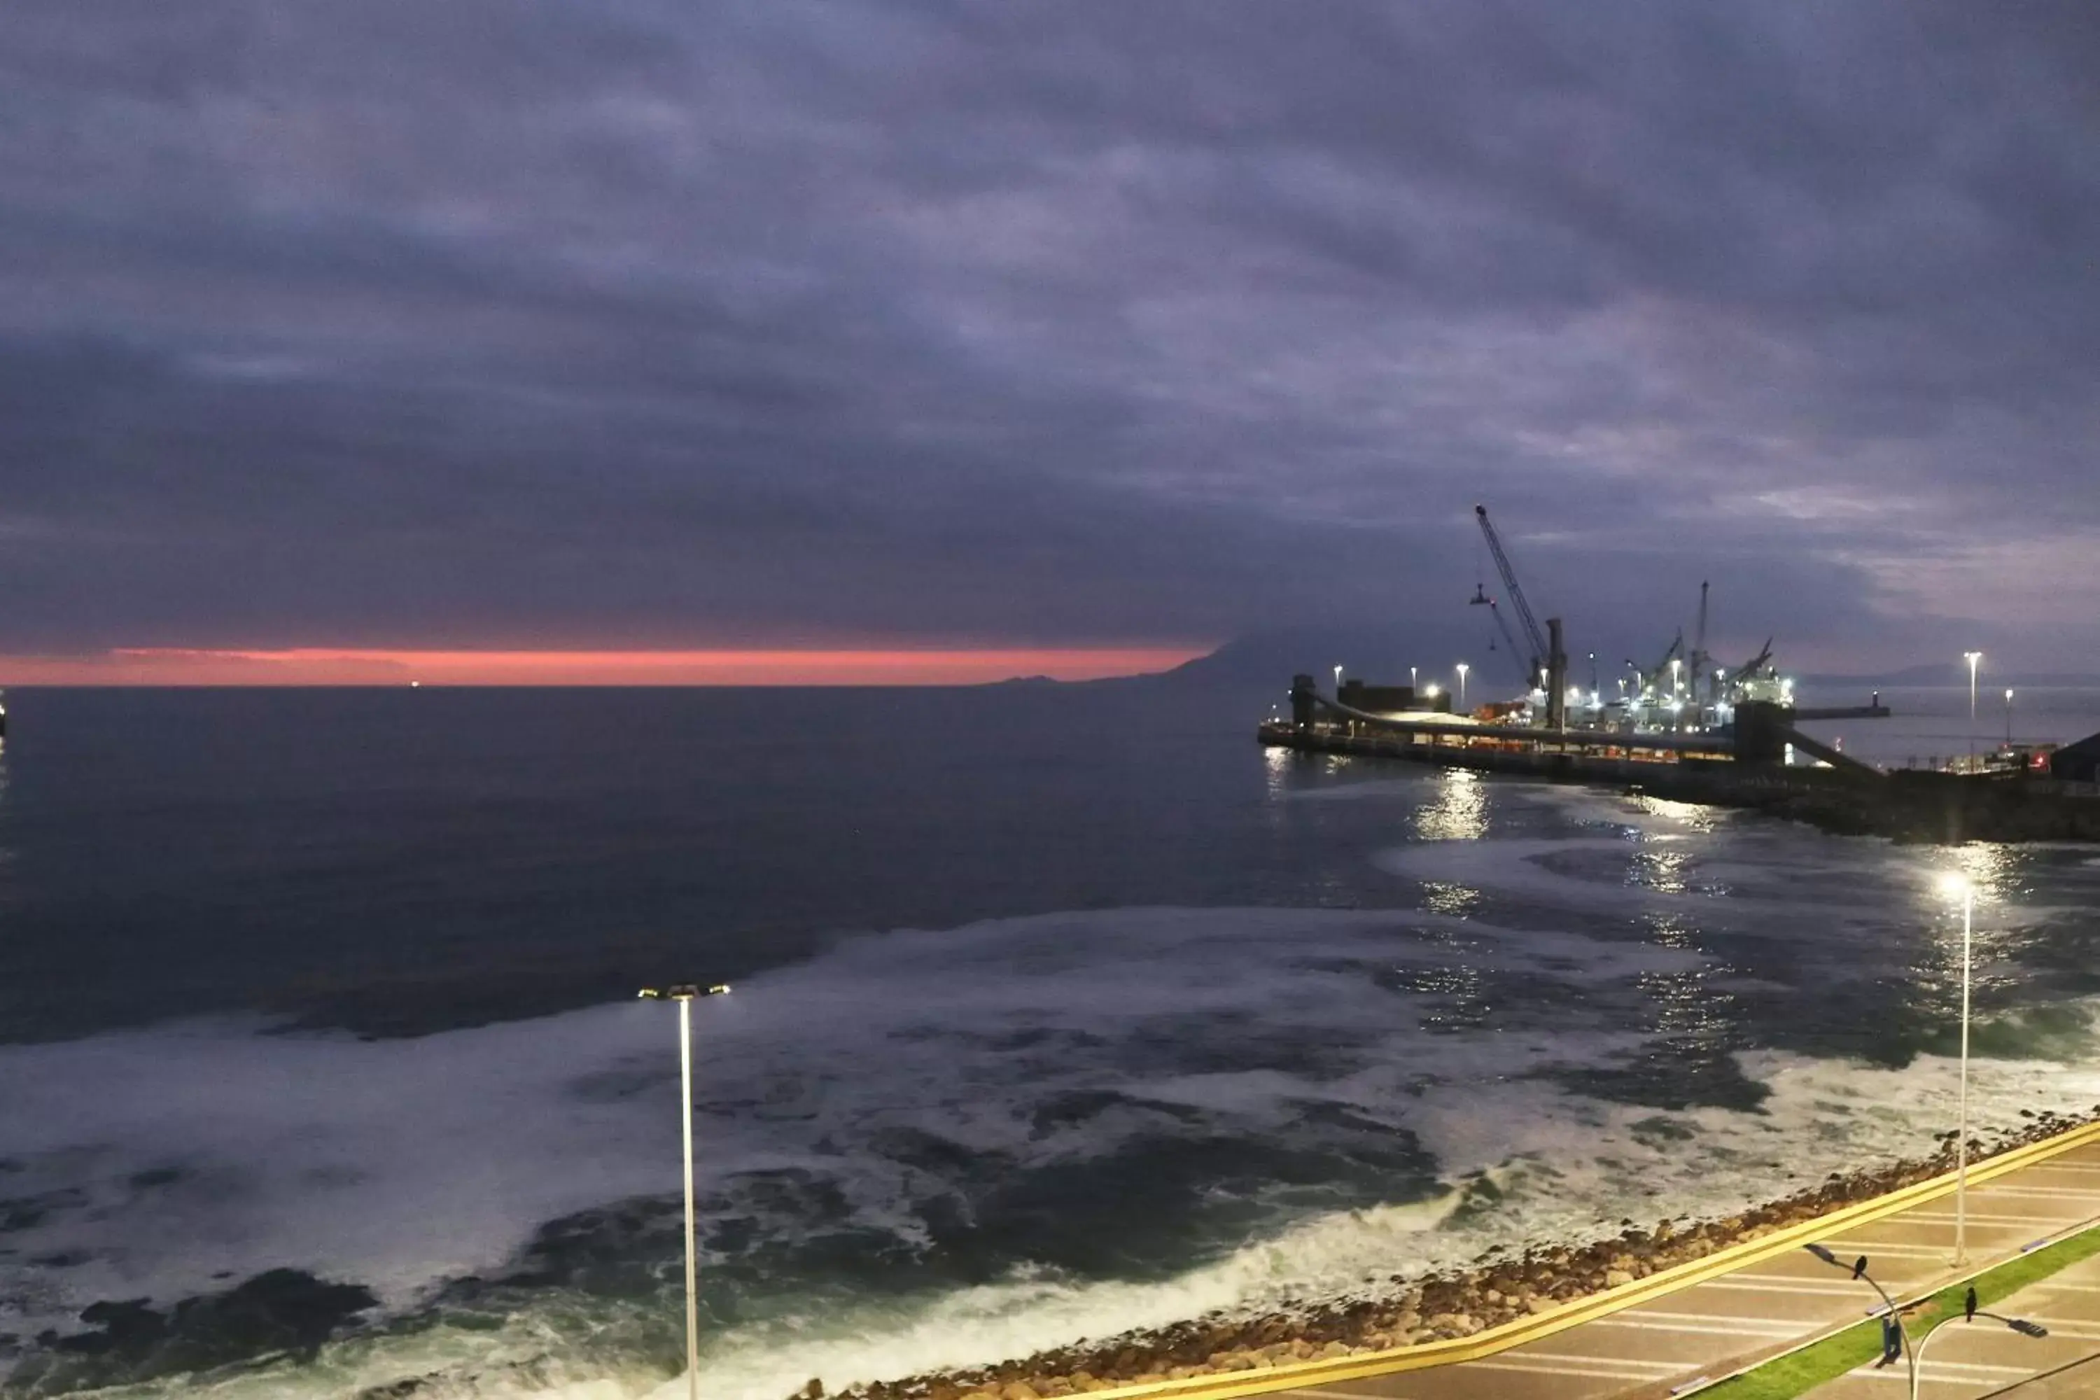
[[[1995,1142],[1970,1140],[1970,1161],[2054,1138],[2090,1115],[2022,1110],[2026,1125]],[[1831,1173],[1821,1186],[1716,1219],[1676,1217],[1653,1228],[1632,1219],[1613,1236],[1579,1245],[1487,1251],[1470,1268],[1407,1278],[1392,1274],[1371,1295],[1306,1303],[1268,1316],[1212,1314],[1159,1331],[1082,1341],[1018,1360],[966,1371],[874,1381],[840,1392],[842,1400],[1054,1400],[1121,1385],[1178,1381],[1235,1371],[1270,1371],[1306,1360],[1371,1356],[1392,1348],[1470,1337],[1522,1316],[1552,1312],[1592,1293],[1615,1289],[1665,1268],[1819,1219],[1846,1205],[1873,1201],[1953,1169],[1955,1133],[1922,1161],[1898,1161],[1852,1173]],[[792,1400],[819,1400],[811,1379]]]

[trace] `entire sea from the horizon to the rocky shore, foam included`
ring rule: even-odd
[[[718,1400],[1924,1152],[1951,869],[1976,1117],[2100,1102],[2100,848],[1264,754],[1275,697],[1159,684],[8,699],[10,1394],[674,1383],[645,982],[735,982],[695,1007]],[[1890,699],[1850,751],[1970,741],[1966,693]]]

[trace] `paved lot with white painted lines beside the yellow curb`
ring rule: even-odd
[[[1867,1272],[1900,1299],[1961,1272],[2018,1255],[2035,1240],[2092,1219],[2100,1219],[2100,1144],[2085,1144],[1989,1184],[1970,1186],[1966,1270],[1949,1266],[1955,1236],[1953,1196],[1827,1236],[1823,1243],[1842,1259],[1867,1255]],[[2079,1276],[2075,1282],[2077,1287],[2073,1280],[2058,1285],[2056,1293],[2043,1293],[2045,1285],[2037,1285],[2035,1291],[2041,1293],[2037,1310],[2043,1314],[2037,1320],[2054,1333],[2052,1318],[2062,1318],[2064,1345],[2100,1350],[2100,1272]],[[1659,1400],[1688,1394],[1699,1390],[1703,1379],[1718,1379],[1814,1335],[1856,1322],[1875,1308],[1880,1299],[1873,1291],[1854,1282],[1846,1270],[1831,1268],[1806,1251],[1793,1251],[1485,1360],[1281,1394],[1317,1400],[1604,1400],[1606,1396]],[[2079,1337],[2077,1329],[2085,1335]],[[1949,1329],[1955,1331],[1961,1329]],[[2016,1381],[2018,1373],[1995,1369],[2014,1364],[2001,1358],[2006,1350],[2058,1341],[1991,1331],[1995,1337],[1989,1339],[1940,1335],[1932,1343],[1926,1354],[1928,1375],[1942,1373],[1945,1358],[1951,1375],[1982,1379],[1982,1385],[1966,1392],[1953,1383],[1934,1383],[1928,1390],[1934,1400],[1980,1396],[1991,1385]],[[2050,1358],[2052,1364],[2068,1360],[2056,1350]],[[1953,1362],[1968,1364],[1970,1371],[1953,1373]],[[1880,1373],[1854,1373],[1842,1381],[1850,1390],[1829,1387],[1827,1394],[1833,1400],[1854,1396],[1905,1400],[1905,1387],[1894,1383],[1900,1373],[1900,1364]],[[2090,1390],[2016,1394],[2020,1400],[2043,1394],[2100,1396],[2100,1375],[2083,1377],[2081,1383]]]

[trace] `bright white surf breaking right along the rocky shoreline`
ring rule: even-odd
[[[1166,1327],[1205,1312],[1258,1312],[1306,1295],[1346,1295],[1388,1274],[1470,1261],[1491,1245],[1581,1238],[1617,1217],[1718,1215],[1819,1184],[1829,1171],[1915,1157],[1953,1119],[1957,1066],[1924,1058],[1888,1070],[1854,1062],[1747,1054],[1743,1066],[1770,1089],[1758,1112],[1695,1108],[1655,1112],[1588,1100],[1539,1081],[1514,1083],[1495,1115],[1474,1089],[1432,1091],[1411,1125],[1453,1167],[1491,1175],[1489,1213],[1453,1219],[1460,1190],[1403,1207],[1338,1211],[1252,1243],[1224,1259],[1159,1282],[1073,1280],[1016,1270],[998,1282],[909,1306],[865,1299],[790,1324],[710,1341],[701,1385],[720,1400],[777,1400],[808,1377],[830,1385]],[[2018,1106],[2083,1108],[2100,1100],[2100,1073],[2056,1062],[1972,1064],[1978,1131],[2018,1127]],[[1464,1180],[1466,1171],[1453,1171]],[[435,1333],[330,1350],[311,1375],[212,1385],[225,1400],[265,1394],[342,1394],[401,1375],[460,1369],[449,1394],[659,1396],[682,1383],[640,1366],[601,1362],[594,1375],[544,1356],[548,1335],[512,1318],[498,1335]],[[508,1366],[517,1366],[514,1371]]]

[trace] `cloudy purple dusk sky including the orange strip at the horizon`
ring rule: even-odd
[[[1474,502],[1577,655],[1712,579],[1718,655],[2100,670],[2096,71],[2085,0],[8,0],[0,682],[1443,636]]]

